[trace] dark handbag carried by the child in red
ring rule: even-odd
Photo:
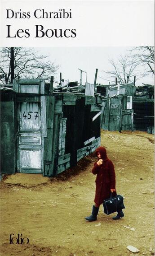
[[[109,215],[111,213],[118,212],[121,209],[125,209],[123,199],[122,195],[115,195],[112,197],[111,193],[111,197],[103,201],[104,213]]]

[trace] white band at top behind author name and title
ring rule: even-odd
[[[30,19],[6,19],[6,9],[30,12]],[[72,19],[36,19],[35,9],[56,12],[71,9]],[[7,38],[7,27],[14,36],[20,28],[30,29],[29,38]],[[35,38],[35,24],[45,29],[75,28],[75,38]],[[14,1],[1,0],[1,47],[128,47],[154,45],[154,1],[78,0]]]

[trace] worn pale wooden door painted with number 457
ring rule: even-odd
[[[40,102],[18,103],[18,172],[42,173]]]

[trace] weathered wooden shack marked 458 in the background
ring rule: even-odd
[[[103,130],[133,130],[135,90],[134,83],[98,86],[97,91],[103,92],[100,96],[102,98],[100,103],[102,104],[101,128]]]

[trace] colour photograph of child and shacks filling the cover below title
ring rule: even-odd
[[[0,255],[154,255],[154,47],[0,54]]]

